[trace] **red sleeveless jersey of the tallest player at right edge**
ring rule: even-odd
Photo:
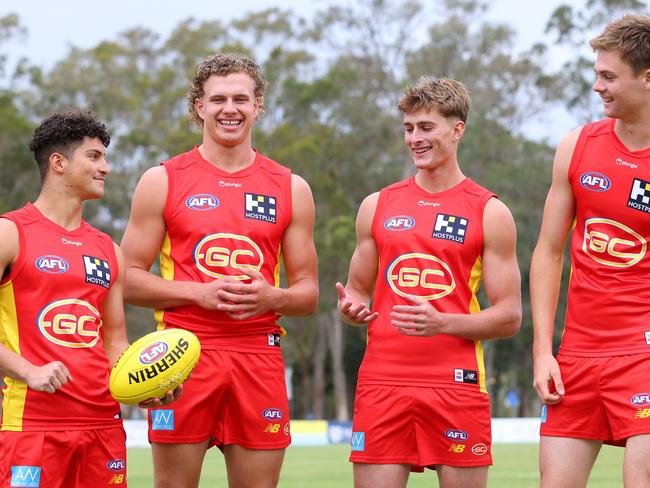
[[[569,167],[576,203],[560,352],[650,352],[650,149],[630,151],[614,119],[585,125]]]

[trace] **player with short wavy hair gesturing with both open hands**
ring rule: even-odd
[[[455,80],[407,88],[399,108],[417,173],[362,202],[348,281],[337,284],[343,319],[368,324],[350,456],[357,488],[405,487],[425,467],[443,488],[487,483],[480,341],[519,330],[521,296],[512,215],[458,164],[469,106]]]

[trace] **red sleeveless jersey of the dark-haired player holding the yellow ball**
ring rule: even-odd
[[[117,276],[113,241],[86,222],[66,231],[27,204],[16,224],[20,253],[0,282],[0,340],[41,366],[63,362],[73,381],[55,393],[6,377],[2,430],[87,430],[121,425],[108,390],[102,304]]]

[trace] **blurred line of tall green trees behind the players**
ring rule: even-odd
[[[423,75],[458,79],[472,96],[461,168],[500,195],[518,230],[522,330],[484,344],[493,414],[535,416],[528,277],[554,148],[522,127],[558,105],[577,123],[599,117],[588,40],[614,17],[647,11],[638,0],[562,5],[548,19],[548,40],[517,50],[514,26],[486,20],[482,0],[363,0],[307,18],[270,8],[230,22],[189,18],[166,36],[136,26],[88,49],[72,47],[48,69],[29,59],[9,66],[2,55],[8,41],[28,34],[16,15],[7,15],[0,18],[0,212],[38,194],[27,149],[34,125],[53,111],[92,110],[113,136],[112,173],[105,198],[89,204],[85,216],[119,242],[141,174],[200,141],[185,99],[196,64],[218,51],[251,56],[270,83],[254,145],[303,176],[316,201],[319,310],[283,319],[293,416],[345,420],[365,328],[341,323],[334,283],[347,276],[356,210],[369,193],[411,174],[396,107],[404,86]],[[554,69],[558,47],[570,54]],[[134,339],[152,330],[153,318],[127,307],[127,323]],[[520,404],[504,401],[509,391],[518,392]]]

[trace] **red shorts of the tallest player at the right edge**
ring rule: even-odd
[[[557,360],[566,393],[560,403],[546,406],[541,435],[623,446],[628,437],[650,434],[650,354],[559,354]]]

